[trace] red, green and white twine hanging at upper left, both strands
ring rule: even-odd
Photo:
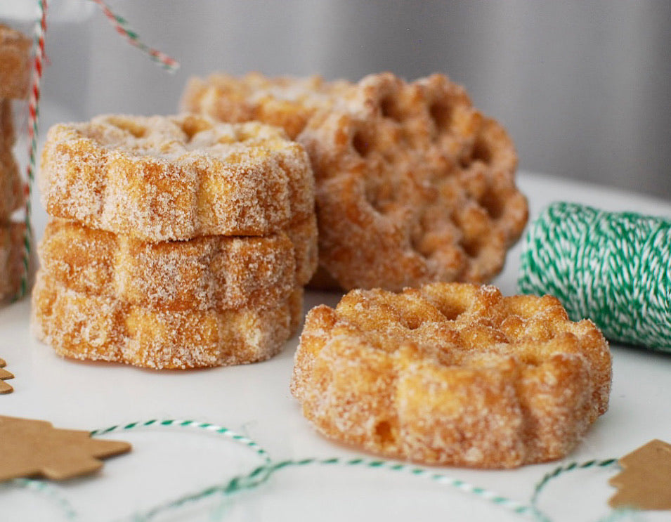
[[[179,63],[167,54],[158,51],[143,43],[138,34],[131,30],[128,22],[114,13],[103,0],[90,0],[97,4],[105,16],[112,22],[119,34],[126,38],[131,45],[146,53],[153,61],[169,72],[175,72]],[[44,70],[44,40],[46,37],[47,0],[37,0],[37,19],[33,29],[32,45],[32,72],[31,86],[28,98],[28,164],[26,167],[25,194],[25,232],[23,236],[22,274],[18,293],[14,299],[18,300],[28,292],[30,277],[30,261],[32,256],[32,209],[30,198],[34,186],[35,171],[37,168],[37,136],[39,126],[39,98],[42,72]]]

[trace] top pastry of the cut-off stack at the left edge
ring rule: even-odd
[[[0,24],[0,98],[27,97],[30,44],[30,38]]]

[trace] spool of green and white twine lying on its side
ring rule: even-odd
[[[523,294],[555,296],[611,341],[671,351],[671,221],[557,202],[526,235]]]

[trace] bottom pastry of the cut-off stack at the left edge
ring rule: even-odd
[[[25,273],[24,223],[0,223],[0,302],[16,296]]]

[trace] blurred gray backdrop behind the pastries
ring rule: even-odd
[[[437,71],[509,129],[521,169],[671,197],[669,1],[109,4],[181,69],[150,63],[88,1],[53,0],[45,125],[173,113],[186,79],[214,70],[353,80]]]

